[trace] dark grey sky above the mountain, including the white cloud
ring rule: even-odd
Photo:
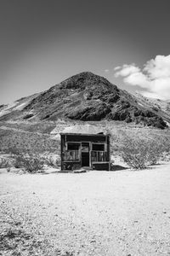
[[[0,0],[0,104],[89,71],[170,100],[169,0]]]

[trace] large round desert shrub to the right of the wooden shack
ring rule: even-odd
[[[164,152],[161,143],[144,138],[126,138],[122,146],[122,159],[133,169],[155,165]]]

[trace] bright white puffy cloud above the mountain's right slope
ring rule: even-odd
[[[124,64],[115,68],[115,77],[123,77],[123,81],[131,85],[139,85],[144,96],[170,99],[170,55],[156,55],[147,61],[143,69],[135,64]]]

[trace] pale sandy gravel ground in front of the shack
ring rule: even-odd
[[[170,164],[138,172],[2,172],[0,186],[0,255],[170,255]]]

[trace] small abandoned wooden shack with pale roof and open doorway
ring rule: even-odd
[[[60,133],[61,170],[110,171],[110,135],[95,125],[74,125]]]

